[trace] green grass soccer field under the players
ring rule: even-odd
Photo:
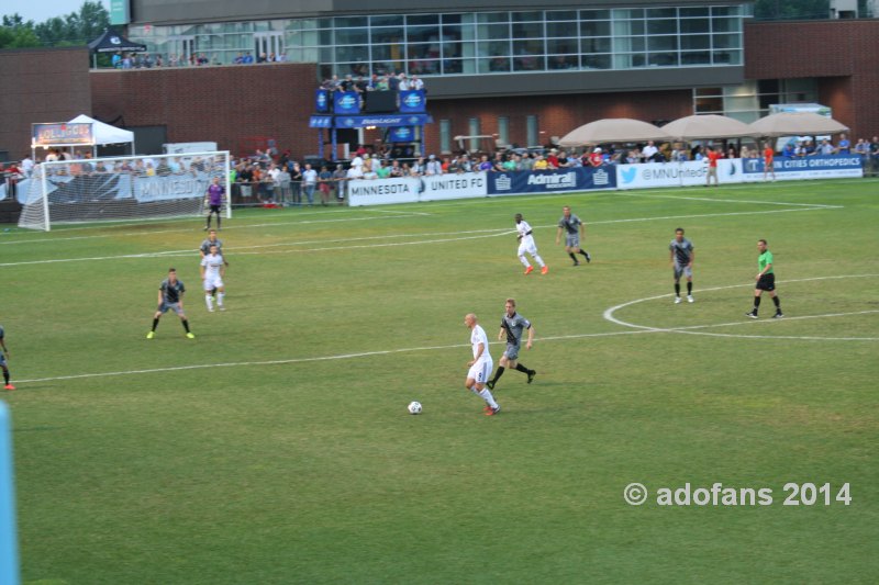
[[[243,211],[212,314],[198,220],[12,227],[23,582],[875,583],[877,195],[864,179]],[[589,266],[554,246],[564,204]],[[545,277],[522,274],[516,212]],[[678,226],[694,304],[671,302]],[[743,316],[758,238],[782,320],[768,299]],[[193,340],[173,314],[145,339],[169,266]],[[508,296],[538,374],[508,371],[485,417],[463,317],[497,365]],[[646,504],[623,499],[632,482]],[[830,484],[830,505],[782,505],[788,482]],[[774,503],[656,502],[687,483]]]

